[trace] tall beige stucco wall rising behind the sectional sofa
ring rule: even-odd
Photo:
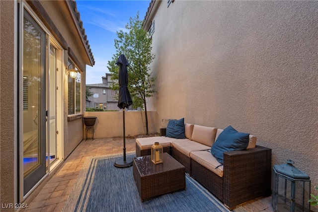
[[[318,1],[176,0],[152,13],[157,124],[232,125],[318,185]]]

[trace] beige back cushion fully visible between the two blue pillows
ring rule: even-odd
[[[216,133],[216,128],[194,125],[191,140],[212,146],[215,141]]]

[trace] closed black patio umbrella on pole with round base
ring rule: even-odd
[[[123,109],[123,137],[124,137],[124,157],[115,161],[114,166],[118,168],[127,168],[133,165],[132,158],[126,158],[126,139],[125,139],[125,108],[128,108],[129,105],[133,104],[133,100],[131,99],[129,90],[127,88],[128,85],[128,71],[127,66],[129,63],[125,57],[125,55],[120,55],[118,60],[116,61],[116,65],[119,66],[119,74],[118,74],[118,84],[119,84],[119,98],[118,98],[118,107]]]

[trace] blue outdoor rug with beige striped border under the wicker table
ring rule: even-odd
[[[126,156],[135,157],[135,154],[128,153]],[[141,202],[133,177],[133,167],[114,166],[114,162],[120,157],[122,155],[117,154],[87,158],[63,211],[229,212],[219,200],[188,175],[186,190]]]

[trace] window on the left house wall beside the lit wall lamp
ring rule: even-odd
[[[74,64],[69,60],[69,65]],[[80,113],[81,104],[80,104],[80,71],[76,75],[76,78],[72,78],[68,75],[69,80],[69,115],[74,115]]]

